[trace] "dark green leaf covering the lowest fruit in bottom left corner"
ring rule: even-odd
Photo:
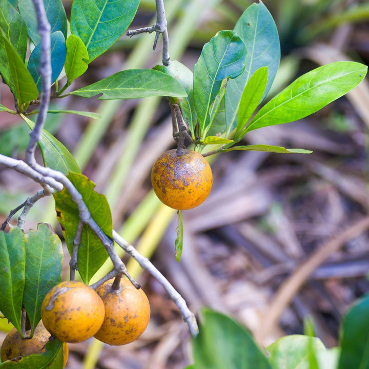
[[[63,367],[63,344],[57,338],[46,343],[46,351],[22,357],[19,361],[4,361],[1,369],[60,369]]]

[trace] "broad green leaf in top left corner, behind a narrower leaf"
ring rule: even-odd
[[[7,0],[0,0],[0,29],[4,31],[11,45],[14,45],[16,52],[22,61],[26,58],[27,50],[27,26],[23,18],[11,6]],[[0,35],[0,74],[6,84],[14,92],[15,86],[8,63],[5,41]]]

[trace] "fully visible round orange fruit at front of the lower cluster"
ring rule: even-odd
[[[92,337],[103,323],[104,314],[104,303],[95,290],[79,281],[54,286],[41,308],[46,329],[65,342],[81,342]]]

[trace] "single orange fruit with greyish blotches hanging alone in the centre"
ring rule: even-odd
[[[151,182],[157,197],[177,210],[197,207],[209,195],[213,175],[209,163],[199,153],[169,150],[155,161]]]

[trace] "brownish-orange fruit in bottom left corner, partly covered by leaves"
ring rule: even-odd
[[[28,334],[30,333],[27,332]],[[1,361],[19,361],[24,356],[45,352],[45,345],[49,341],[50,333],[46,330],[42,321],[38,323],[31,339],[22,339],[18,331],[13,328],[5,337],[0,351]],[[68,343],[63,344],[64,357],[63,368],[68,360]]]

